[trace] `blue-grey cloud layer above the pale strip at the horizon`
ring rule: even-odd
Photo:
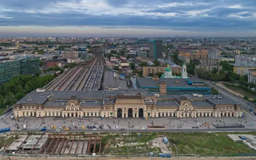
[[[0,26],[255,31],[254,0],[9,0]]]

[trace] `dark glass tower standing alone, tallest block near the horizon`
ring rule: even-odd
[[[163,42],[161,40],[151,40],[149,42],[149,58],[162,58]]]

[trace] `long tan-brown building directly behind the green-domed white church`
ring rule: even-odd
[[[156,74],[158,72],[164,73],[166,67],[143,67],[143,77],[148,77],[148,74]],[[170,66],[172,74],[181,74],[182,67],[176,65],[175,67]]]

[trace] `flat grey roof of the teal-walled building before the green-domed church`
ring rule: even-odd
[[[179,87],[179,88],[208,88],[207,86],[193,86],[189,85],[186,79],[179,79],[179,78],[159,78],[159,81],[154,81],[152,78],[139,78],[137,77],[137,86],[140,88],[159,88],[157,85],[161,81],[166,81],[167,88]],[[179,83],[177,83],[179,82]]]

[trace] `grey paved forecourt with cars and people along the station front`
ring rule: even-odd
[[[235,118],[235,117],[200,117],[200,118],[148,118],[143,120],[142,118],[36,118],[36,117],[25,117],[18,118],[18,120],[11,118],[12,113],[5,116],[0,116],[0,128],[10,127],[13,131],[17,129],[16,126],[19,126],[22,129],[22,126],[26,124],[27,129],[60,129],[69,128],[70,131],[81,131],[82,125],[84,130],[88,130],[89,127],[97,127],[97,130],[102,129],[109,130],[120,130],[123,129],[147,129],[148,125],[164,125],[167,129],[192,129],[192,128],[214,128],[214,125],[217,124],[243,124],[248,128],[255,128],[255,116],[250,113],[246,114],[244,118]],[[16,124],[16,125],[15,125]],[[54,125],[56,126],[54,128]],[[65,126],[65,127],[64,127]],[[109,127],[110,126],[110,127]],[[90,130],[92,130],[90,128]],[[96,129],[94,129],[96,131]]]

